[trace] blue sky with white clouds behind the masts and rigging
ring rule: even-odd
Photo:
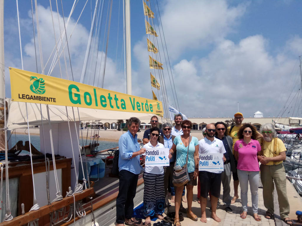
[[[109,30],[103,88],[125,92],[123,2],[113,1],[108,29],[110,2],[100,1],[97,14],[102,17],[96,20],[101,26],[94,27],[92,47],[83,72],[95,0],[87,1],[79,18],[85,2],[77,2],[66,26],[67,36],[71,35],[69,53],[65,36],[62,53],[59,34],[64,32],[63,13],[67,23],[73,1],[64,0],[63,11],[58,1],[59,14],[56,1],[51,1],[52,11],[49,1],[38,1],[39,26],[35,8],[33,11],[35,36],[31,1],[18,1],[23,69],[43,73],[42,56],[44,74],[101,87]],[[149,74],[154,71],[149,69],[151,54],[146,45],[143,1],[130,2],[132,95],[152,99]],[[164,81],[159,81],[160,92],[153,88],[159,100],[162,100],[165,84],[169,105],[189,117],[232,117],[238,106],[244,117],[251,117],[258,110],[264,117],[302,117],[300,1],[149,2],[155,13],[154,28],[159,35],[149,38],[159,49],[156,56],[164,68],[161,71]],[[10,97],[8,67],[22,69],[22,64],[16,1],[5,1],[4,7],[5,87]],[[62,53],[60,64],[54,57],[55,38]],[[57,63],[51,69],[53,59]],[[159,70],[155,72],[159,80]]]

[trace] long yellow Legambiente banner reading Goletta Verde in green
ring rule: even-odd
[[[9,69],[11,99],[13,101],[153,113],[163,116],[161,101],[127,95],[16,68]]]

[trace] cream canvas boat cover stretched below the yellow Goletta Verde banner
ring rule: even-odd
[[[8,102],[8,130],[27,127],[27,114],[24,102],[11,101],[6,98]],[[48,105],[50,114],[50,123],[67,122],[67,113],[65,106]],[[47,109],[45,104],[41,104],[43,124],[48,124]],[[79,109],[79,113],[78,113]],[[130,117],[137,117],[139,119],[150,119],[154,114],[148,113],[133,113],[121,112],[110,110],[99,110],[91,108],[76,108],[73,107],[75,114],[75,121],[88,121],[88,120],[118,120],[129,119]],[[38,103],[27,103],[28,121],[29,126],[41,125],[41,110]],[[69,121],[74,121],[72,107],[67,107]],[[160,117],[159,117],[160,118]]]

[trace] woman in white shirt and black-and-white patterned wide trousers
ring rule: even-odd
[[[165,148],[159,143],[159,128],[150,129],[150,141],[144,148]],[[146,166],[144,178],[144,211],[146,217],[145,225],[151,226],[151,216],[160,220],[165,209],[164,168],[163,166]]]

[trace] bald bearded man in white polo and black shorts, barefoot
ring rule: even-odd
[[[216,128],[213,124],[207,124],[206,126],[207,136],[204,139],[199,141],[199,154],[217,154],[225,153],[223,142],[216,137],[214,137]],[[226,158],[223,156],[223,161],[226,161]],[[200,189],[200,206],[201,206],[201,222],[207,222],[206,216],[206,206],[207,206],[207,196],[211,192],[211,206],[212,213],[211,217],[220,222],[220,218],[216,215],[216,208],[218,198],[220,196],[220,186],[221,186],[221,171],[217,170],[204,170],[199,171],[199,180],[201,189]]]

